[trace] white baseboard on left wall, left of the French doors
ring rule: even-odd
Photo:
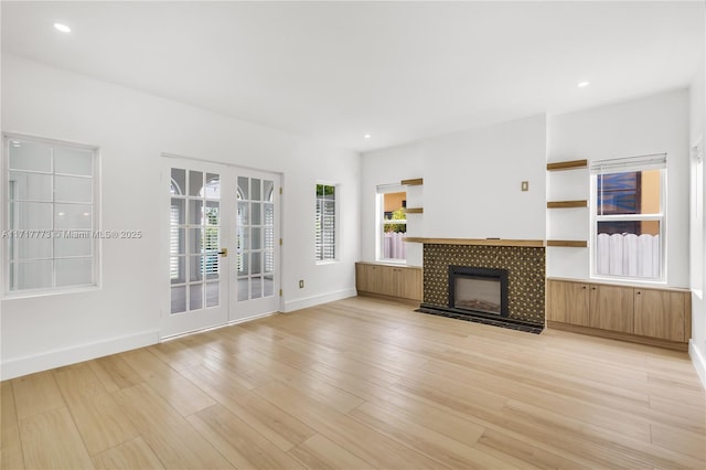
[[[95,343],[82,344],[61,350],[47,351],[25,357],[11,359],[2,362],[0,380],[20,377],[35,372],[89,361],[109,354],[117,354],[138,348],[157,344],[159,331],[145,331],[127,337],[113,338]]]

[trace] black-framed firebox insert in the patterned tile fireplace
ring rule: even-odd
[[[448,307],[456,312],[506,318],[507,270],[449,266]]]

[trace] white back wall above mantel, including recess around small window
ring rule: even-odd
[[[424,178],[422,195],[408,201],[424,205],[407,217],[410,236],[544,239],[545,141],[541,115],[365,153],[363,259],[375,259],[375,186],[407,178]],[[407,263],[421,266],[421,246],[408,249]]]

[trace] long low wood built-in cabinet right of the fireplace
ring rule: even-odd
[[[691,292],[547,279],[547,325],[684,350],[691,338]]]

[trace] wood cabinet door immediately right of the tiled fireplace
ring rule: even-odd
[[[547,320],[589,325],[587,284],[549,279],[547,297]]]

